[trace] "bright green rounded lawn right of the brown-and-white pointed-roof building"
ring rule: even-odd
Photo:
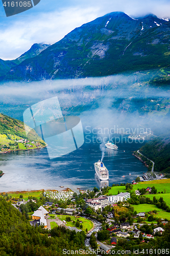
[[[63,220],[66,221],[67,215],[63,215],[63,216],[57,215],[57,217],[58,217],[61,221],[63,221]],[[83,230],[86,229],[86,228],[87,228],[87,230],[90,230],[90,229],[93,227],[93,223],[92,223],[90,220],[87,220],[87,219],[82,218],[82,217],[80,217],[80,218],[76,218],[76,217],[74,217],[74,216],[69,216],[69,217],[71,218],[72,221],[73,221],[73,220],[76,221],[77,219],[79,219],[79,221],[82,221],[82,223],[80,223],[80,224],[83,225]],[[70,222],[69,222],[69,221],[66,221],[66,222],[67,222],[66,226],[69,226],[69,227],[76,227],[71,221],[70,221]]]

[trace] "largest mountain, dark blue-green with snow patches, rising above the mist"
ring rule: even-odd
[[[123,12],[112,12],[23,60],[1,80],[106,76],[168,67],[169,30],[170,23],[153,14],[134,19]]]

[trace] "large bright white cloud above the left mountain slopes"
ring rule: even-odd
[[[15,59],[36,42],[54,44],[71,30],[96,18],[97,11],[98,8],[69,8],[40,13],[35,17],[20,16],[19,19],[14,19],[12,24],[0,29],[0,58]]]

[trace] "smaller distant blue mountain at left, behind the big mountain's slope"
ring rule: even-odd
[[[50,44],[34,44],[27,52],[14,60],[0,59],[0,76],[7,74],[12,67],[19,65],[23,60],[37,56],[48,46],[50,46]]]

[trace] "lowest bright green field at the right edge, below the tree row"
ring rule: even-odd
[[[136,210],[138,212],[148,212],[150,210],[157,210],[157,214],[155,217],[161,218],[161,219],[168,219],[170,220],[170,212],[163,211],[162,209],[159,209],[154,204],[139,204],[139,205],[132,205],[134,207],[134,211]]]

